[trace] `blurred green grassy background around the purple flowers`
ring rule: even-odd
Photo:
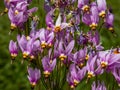
[[[4,10],[4,0],[0,0],[0,12]],[[40,2],[43,0],[40,0]],[[107,30],[101,32],[101,41],[105,49],[120,45],[120,0],[107,0],[108,6],[112,7],[115,15],[114,28],[117,37],[114,37]],[[38,4],[34,4],[38,6]],[[39,5],[42,7],[41,5]],[[42,10],[39,15],[43,17]],[[44,18],[43,18],[44,19]],[[8,45],[11,39],[15,39],[16,34],[10,32],[10,22],[7,15],[0,17],[0,90],[30,90],[30,84],[27,79],[27,63],[21,64],[18,59],[11,64]]]

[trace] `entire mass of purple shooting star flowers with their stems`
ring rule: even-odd
[[[114,15],[105,0],[45,0],[46,23],[40,29],[39,17],[33,14],[39,7],[29,9],[32,0],[4,3],[11,30],[18,30],[17,40],[9,44],[11,59],[22,53],[28,61],[33,89],[41,85],[69,90],[85,83],[92,90],[107,90],[109,84],[100,77],[104,74],[120,83],[120,49],[104,50],[100,42],[102,27],[114,34]]]

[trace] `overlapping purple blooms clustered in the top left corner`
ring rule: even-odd
[[[8,16],[11,21],[11,30],[24,27],[29,15],[37,11],[37,8],[28,9],[32,0],[4,0]]]

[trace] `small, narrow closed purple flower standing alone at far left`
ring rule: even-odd
[[[17,47],[17,43],[14,42],[13,40],[11,40],[9,43],[9,51],[11,54],[11,58],[14,60],[18,55],[18,47]]]

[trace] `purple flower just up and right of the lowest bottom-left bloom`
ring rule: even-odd
[[[44,57],[42,59],[42,65],[44,69],[44,75],[45,77],[48,77],[56,66],[56,59],[55,58],[51,59],[50,57]]]

